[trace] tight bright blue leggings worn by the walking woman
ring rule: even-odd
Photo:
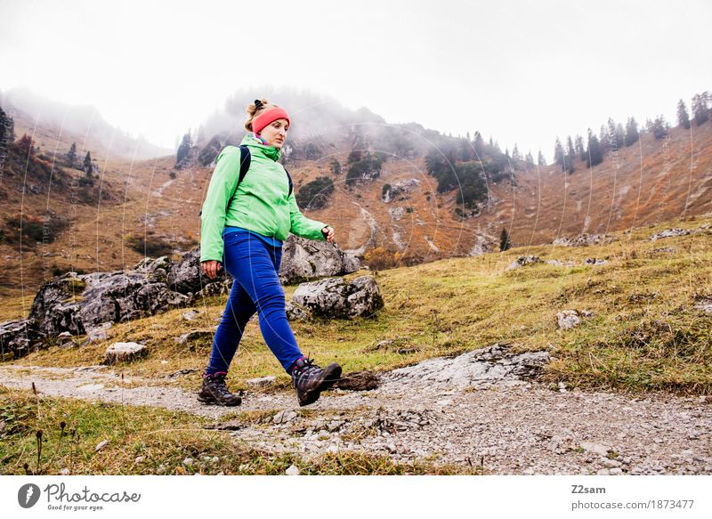
[[[264,342],[289,373],[303,355],[289,328],[284,289],[279,283],[282,248],[271,247],[247,231],[226,232],[223,268],[231,275],[232,290],[223,319],[215,331],[206,374],[227,372],[238,350],[247,320],[258,312]]]

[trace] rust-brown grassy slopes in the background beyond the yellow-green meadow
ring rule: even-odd
[[[338,117],[346,115],[339,112]],[[590,169],[577,160],[573,174],[565,174],[555,165],[517,168],[498,182],[488,182],[480,213],[463,218],[457,215],[461,207],[457,189],[438,193],[438,182],[427,173],[425,150],[441,142],[443,136],[415,124],[386,125],[368,110],[352,117],[358,122],[344,126],[343,132],[328,141],[319,137],[287,140],[291,153],[286,152],[286,166],[297,192],[320,176],[334,182],[327,207],[303,208],[303,213],[334,226],[337,244],[352,254],[365,255],[380,247],[384,265],[496,251],[502,229],[509,232],[514,245],[537,246],[582,232],[635,229],[712,211],[709,122],[692,126],[692,131],[671,128],[667,139],[644,133],[634,146],[619,150],[615,164],[611,155],[606,155],[602,164]],[[374,127],[376,130],[369,129]],[[16,116],[18,136],[30,128],[39,135],[36,144],[49,160],[60,160],[70,142],[83,142],[85,137],[90,142],[91,133],[60,132],[59,127],[43,121],[35,124],[22,113]],[[366,134],[366,149],[377,152],[381,150],[379,142],[387,142],[384,150],[389,153],[380,174],[349,186],[346,169],[354,142],[359,141],[354,131],[360,128],[381,132]],[[230,138],[239,140],[241,134],[239,131]],[[399,150],[392,141],[401,136],[403,142],[398,145],[404,151],[396,154],[390,151]],[[205,144],[199,144],[196,155]],[[101,146],[91,151],[100,166],[101,202],[73,203],[72,193],[68,196],[58,191],[26,192],[17,197],[12,190],[20,192],[26,179],[17,175],[12,181],[5,176],[4,221],[12,215],[38,215],[46,210],[71,221],[53,243],[24,247],[21,256],[17,246],[0,244],[5,267],[0,285],[5,297],[24,293],[31,300],[41,280],[52,272],[127,268],[139,261],[144,251],[155,256],[185,252],[198,244],[198,211],[212,173],[210,165],[201,166],[196,159],[176,170],[172,155],[127,160],[106,154]],[[341,173],[332,172],[334,160],[342,166]],[[78,178],[82,173],[69,174]],[[404,188],[396,192],[393,188],[399,185]],[[384,199],[388,186],[395,194]]]

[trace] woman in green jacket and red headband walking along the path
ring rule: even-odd
[[[334,229],[302,215],[294,192],[289,193],[287,171],[278,162],[290,125],[287,111],[267,100],[255,100],[247,107],[247,116],[245,128],[251,134],[245,135],[240,145],[250,151],[249,169],[238,182],[240,150],[225,147],[217,157],[203,204],[203,272],[213,279],[224,267],[233,283],[198,400],[218,405],[241,403],[239,395],[225,385],[225,376],[247,320],[257,312],[264,341],[291,375],[299,405],[307,405],[341,377],[341,366],[332,363],[321,369],[299,351],[279,284],[282,240],[292,232],[331,242]]]

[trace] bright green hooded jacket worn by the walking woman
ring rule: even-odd
[[[238,183],[239,148],[226,146],[207,188],[200,224],[200,261],[223,261],[223,228],[226,225],[259,232],[279,240],[292,232],[306,239],[326,240],[321,230],[328,223],[310,220],[296,205],[294,191],[287,199],[289,181],[277,162],[281,150],[267,146],[247,134],[240,144],[250,150],[250,168],[240,182],[230,207],[232,191]]]

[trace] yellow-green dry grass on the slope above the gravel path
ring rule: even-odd
[[[654,232],[672,225],[697,228],[699,224],[673,222],[619,233],[616,241],[603,246],[527,249],[528,254],[543,260],[574,262],[570,267],[531,264],[506,270],[522,254],[521,248],[514,248],[503,254],[375,272],[385,308],[373,319],[295,322],[292,328],[304,353],[321,362],[338,361],[346,372],[394,369],[506,341],[520,351],[547,349],[553,353],[556,360],[544,373],[551,381],[587,388],[710,393],[710,316],[692,307],[695,297],[712,295],[712,235],[648,240]],[[654,250],[670,244],[677,247],[673,253]],[[608,263],[584,264],[592,256],[606,258]],[[294,290],[286,288],[287,300]],[[174,337],[214,327],[224,302],[224,296],[203,301],[197,308],[202,312],[198,320],[182,320],[185,310],[175,310],[120,323],[111,328],[110,339],[103,343],[53,347],[19,363],[96,364],[103,359],[107,345],[135,341],[148,345],[150,354],[143,361],[120,366],[126,375],[163,381],[162,377],[179,369],[196,369],[170,382],[195,388],[210,353],[210,340],[188,347],[177,345]],[[578,328],[562,331],[555,315],[565,309],[586,309],[595,316]],[[666,324],[650,328],[648,349],[632,348],[621,338],[631,333],[629,328],[635,323],[644,327],[644,323],[658,320]],[[385,339],[394,342],[377,347]],[[696,353],[684,353],[684,348]],[[667,353],[660,354],[661,350]],[[589,353],[590,359],[595,355],[600,362],[582,361],[582,355],[588,359]],[[653,376],[651,370],[658,374]],[[231,383],[245,388],[247,378],[266,375],[278,377],[278,387],[288,385],[287,375],[264,345],[255,321],[247,325],[231,365]]]

